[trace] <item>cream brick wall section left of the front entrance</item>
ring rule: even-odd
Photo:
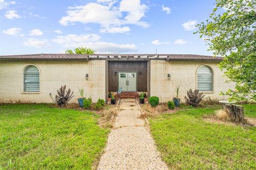
[[[36,65],[40,71],[40,92],[25,94],[23,92],[23,69],[27,65]],[[85,97],[92,97],[93,102],[98,98],[105,99],[106,61],[94,60],[89,62],[0,62],[0,102],[52,102],[56,90],[66,84],[74,91],[76,101],[79,98],[78,88],[84,88]],[[89,79],[85,79],[89,74]]]

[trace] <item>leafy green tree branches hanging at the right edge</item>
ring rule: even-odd
[[[230,100],[256,101],[256,1],[216,0],[206,22],[197,25],[214,55],[224,56],[220,69],[235,82],[223,91]]]

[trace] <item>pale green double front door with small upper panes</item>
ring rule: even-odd
[[[137,91],[136,72],[119,72],[118,79],[118,87],[122,91]]]

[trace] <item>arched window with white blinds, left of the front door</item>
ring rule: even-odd
[[[34,65],[24,71],[24,91],[39,92],[39,70]]]

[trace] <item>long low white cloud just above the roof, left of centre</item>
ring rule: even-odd
[[[60,44],[63,48],[89,47],[96,50],[97,53],[125,53],[137,50],[137,46],[134,44],[115,44],[100,41],[100,36],[93,33],[87,35],[57,36],[52,41]]]

